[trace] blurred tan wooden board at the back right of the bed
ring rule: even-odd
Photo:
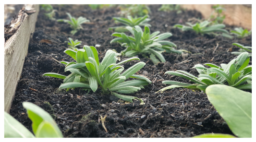
[[[187,10],[196,10],[202,13],[205,19],[208,19],[214,12],[211,7],[216,4],[182,4],[181,7]],[[238,27],[252,29],[252,5],[251,4],[220,4],[224,6],[226,15],[224,24],[236,25]]]

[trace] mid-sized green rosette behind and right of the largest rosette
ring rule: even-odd
[[[153,63],[158,64],[160,61],[165,62],[165,59],[161,54],[164,51],[168,53],[183,53],[183,50],[175,50],[174,47],[176,47],[176,45],[174,43],[163,40],[172,36],[171,33],[158,35],[160,33],[158,31],[150,34],[148,26],[145,26],[144,32],[139,26],[135,26],[135,28],[127,26],[126,29],[128,29],[133,36],[127,36],[124,33],[113,33],[112,36],[117,36],[118,38],[115,38],[110,42],[118,42],[126,47],[126,49],[122,51],[124,56],[134,57],[138,54],[142,54],[147,57],[149,54]],[[158,57],[160,61],[156,57]]]

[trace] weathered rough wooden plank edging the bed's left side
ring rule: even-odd
[[[4,45],[4,111],[11,109],[12,99],[20,79],[31,33],[34,33],[39,5],[26,5],[25,9],[34,8],[37,12],[25,14],[23,23],[16,33]]]

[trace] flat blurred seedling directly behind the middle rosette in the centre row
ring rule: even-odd
[[[109,30],[116,29],[116,28],[125,28],[126,26],[134,27],[136,25],[138,26],[151,26],[150,24],[147,24],[150,19],[148,19],[148,16],[139,17],[139,18],[133,18],[132,16],[127,16],[128,19],[122,18],[122,17],[114,17],[113,19],[115,22],[120,22],[122,24],[125,24],[125,26],[117,26],[117,27],[110,27]]]

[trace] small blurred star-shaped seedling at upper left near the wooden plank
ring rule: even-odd
[[[83,29],[81,24],[90,22],[89,20],[81,16],[78,19],[76,19],[75,17],[72,17],[70,13],[67,13],[67,15],[69,16],[70,20],[60,19],[58,20],[58,22],[65,22],[70,24],[70,27],[73,29],[71,31],[72,35],[74,35],[79,29]]]

